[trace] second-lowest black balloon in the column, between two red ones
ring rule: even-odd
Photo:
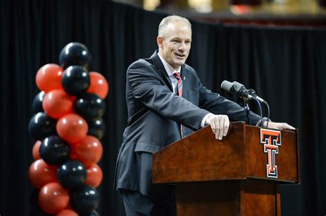
[[[68,160],[58,167],[58,171],[56,172],[58,181],[67,189],[73,189],[83,185],[86,176],[86,168],[78,160]]]

